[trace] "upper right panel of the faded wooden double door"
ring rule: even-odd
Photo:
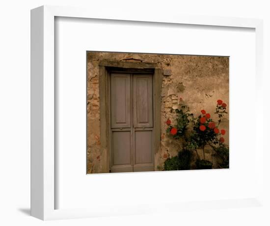
[[[152,75],[133,76],[134,127],[153,126]]]

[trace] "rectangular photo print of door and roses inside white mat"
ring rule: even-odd
[[[229,57],[86,52],[87,174],[229,168]]]

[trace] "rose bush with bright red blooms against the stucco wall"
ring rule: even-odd
[[[225,139],[223,135],[226,130],[219,128],[220,122],[226,112],[227,104],[223,100],[216,101],[216,112],[218,121],[215,122],[210,113],[202,109],[199,116],[196,118],[189,112],[189,107],[182,105],[180,109],[176,109],[176,125],[172,125],[170,119],[166,121],[168,126],[166,132],[170,134],[174,139],[183,138],[185,149],[188,151],[195,151],[197,154],[197,169],[209,169],[212,168],[212,163],[205,159],[205,145],[209,145],[213,150],[219,150],[222,147],[224,150],[227,148],[224,145]],[[191,131],[188,131],[189,123],[192,124]],[[203,159],[198,154],[197,149],[203,150]],[[224,152],[224,151],[223,151]]]

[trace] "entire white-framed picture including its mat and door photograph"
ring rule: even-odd
[[[32,9],[31,215],[263,205],[262,32],[257,19]]]

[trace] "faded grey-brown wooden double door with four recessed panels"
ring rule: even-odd
[[[154,170],[153,118],[153,74],[111,72],[110,172]]]

